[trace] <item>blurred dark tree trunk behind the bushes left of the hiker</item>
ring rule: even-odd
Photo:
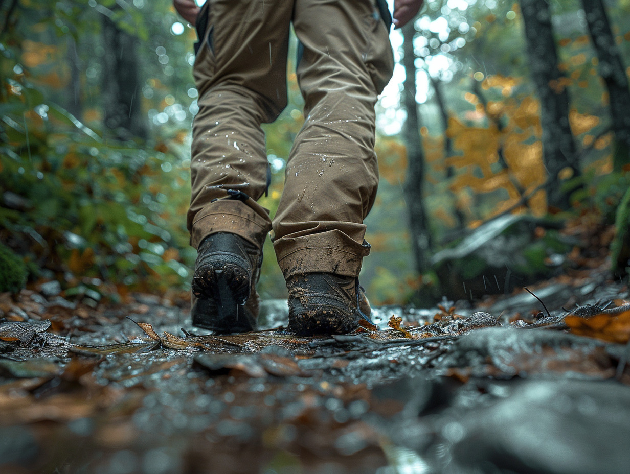
[[[105,126],[121,140],[146,138],[140,110],[137,38],[107,16],[103,20],[103,109]]]

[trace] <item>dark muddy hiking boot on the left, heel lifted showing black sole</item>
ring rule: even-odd
[[[255,330],[261,249],[236,234],[221,232],[203,239],[197,252],[193,325],[218,334]]]

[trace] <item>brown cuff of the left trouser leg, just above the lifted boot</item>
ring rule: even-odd
[[[200,242],[217,232],[229,232],[262,248],[272,229],[269,211],[251,198],[247,201],[220,199],[210,203],[197,213],[190,232],[190,245]]]

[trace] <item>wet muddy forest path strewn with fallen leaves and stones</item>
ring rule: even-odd
[[[319,338],[286,302],[214,337],[161,296],[0,295],[0,472],[627,473],[626,283],[531,289],[550,314],[520,291]]]

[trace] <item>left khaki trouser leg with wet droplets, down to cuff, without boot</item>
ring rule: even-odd
[[[256,203],[269,176],[260,124],[287,103],[292,10],[282,0],[208,0],[202,10],[207,28],[193,67],[199,111],[186,217],[193,247],[217,232],[262,247],[271,230],[268,210]]]

